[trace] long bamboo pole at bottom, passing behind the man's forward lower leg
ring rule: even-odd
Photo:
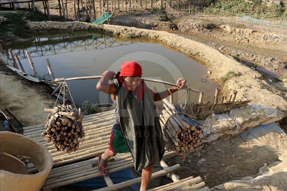
[[[153,173],[151,175],[150,179],[152,180],[152,179],[161,177],[163,175],[169,174],[171,172],[174,172],[174,171],[178,170],[179,168],[180,168],[180,165],[174,165],[172,167],[169,167],[169,168],[163,169],[161,171],[155,172],[155,173]],[[108,187],[105,187],[105,188],[102,188],[102,189],[98,189],[97,191],[117,190],[117,189],[120,189],[120,188],[124,188],[124,187],[128,187],[128,186],[140,183],[141,180],[142,180],[142,178],[139,177],[139,178],[135,178],[135,179],[128,180],[128,181],[125,181],[125,182],[121,182],[121,183],[118,183],[118,184],[114,184],[113,186],[108,186]]]

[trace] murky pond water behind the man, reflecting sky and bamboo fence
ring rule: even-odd
[[[182,54],[175,49],[149,39],[124,39],[86,32],[43,34],[31,37],[22,43],[10,44],[17,53],[26,72],[33,75],[25,54],[31,53],[39,76],[49,78],[46,58],[49,58],[55,78],[102,75],[107,69],[119,71],[125,61],[136,61],[142,66],[143,77],[175,83],[180,77],[187,80],[189,88],[204,92],[203,101],[212,101],[215,88],[219,87],[207,77],[203,63]],[[77,104],[112,103],[109,95],[96,90],[99,79],[68,81],[71,95]],[[155,92],[164,91],[169,85],[146,82]],[[174,100],[184,94],[178,91]],[[191,93],[191,101],[197,102],[199,94]],[[179,100],[184,103],[186,96]],[[162,101],[156,102],[162,105]]]

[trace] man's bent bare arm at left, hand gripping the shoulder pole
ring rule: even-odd
[[[109,80],[115,76],[115,72],[106,70],[103,73],[103,77],[97,83],[97,90],[102,91],[106,94],[115,94],[115,84],[109,84]]]

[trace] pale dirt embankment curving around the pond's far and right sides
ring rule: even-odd
[[[223,92],[226,96],[229,97],[231,90],[238,90],[238,99],[251,99],[253,100],[252,103],[261,103],[285,112],[287,111],[286,93],[272,86],[271,83],[273,82],[266,82],[266,79],[260,73],[239,63],[231,56],[222,54],[203,43],[186,39],[176,34],[165,31],[105,24],[94,25],[83,22],[31,22],[29,26],[35,31],[92,30],[127,38],[156,39],[206,63],[207,68],[212,71],[210,77],[217,82],[220,82],[222,77],[225,78]],[[236,75],[230,76],[228,75],[229,73]],[[227,75],[228,78],[226,77]]]

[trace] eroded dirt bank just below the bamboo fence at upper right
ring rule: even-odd
[[[287,50],[287,37],[284,35],[271,35],[250,29],[239,29],[190,19],[178,22],[177,26],[180,32],[197,35],[205,39],[219,39],[280,51]]]

